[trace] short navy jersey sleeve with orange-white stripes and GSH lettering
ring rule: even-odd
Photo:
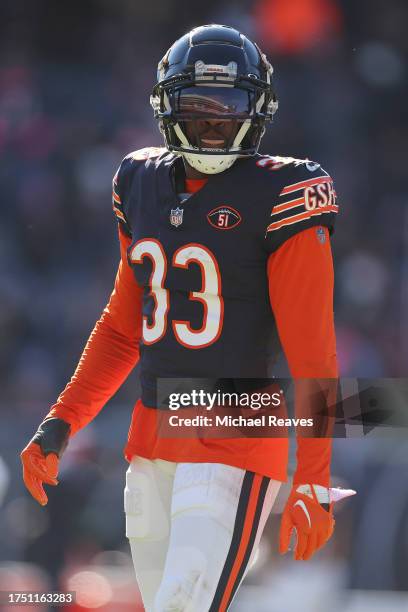
[[[266,168],[270,164],[271,170],[283,173],[282,187],[266,228],[271,250],[309,227],[323,225],[330,233],[334,231],[339,208],[337,194],[333,179],[320,164],[288,157],[266,158],[264,164]]]

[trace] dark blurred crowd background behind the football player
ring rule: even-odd
[[[342,376],[406,376],[407,20],[404,0],[2,0],[0,590],[68,586],[85,593],[75,610],[141,609],[122,514],[136,375],[73,441],[46,509],[23,490],[18,451],[110,294],[112,176],[129,151],[161,145],[157,62],[191,27],[225,23],[259,43],[280,101],[261,151],[334,176]],[[335,477],[359,495],[335,539],[308,564],[278,559],[273,516],[233,610],[407,609],[407,451],[403,432],[337,441]]]

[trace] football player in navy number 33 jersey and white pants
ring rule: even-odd
[[[140,360],[125,456],[126,534],[146,610],[227,610],[280,484],[288,439],[158,433],[158,379],[267,377],[277,331],[291,376],[336,379],[330,234],[338,211],[318,163],[260,155],[278,102],[259,47],[230,27],[182,36],[151,105],[164,148],[127,155],[113,180],[121,259],[78,367],[22,452],[47,503],[69,439]],[[276,351],[275,351],[276,352]],[[298,437],[280,551],[330,538],[330,438]]]

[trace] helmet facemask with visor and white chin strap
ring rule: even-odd
[[[272,68],[266,81],[252,74],[238,77],[235,62],[206,66],[198,61],[194,72],[194,77],[177,74],[159,81],[151,104],[167,148],[196,170],[217,174],[238,157],[257,152],[265,123],[277,108]],[[211,146],[205,142],[206,130],[216,141]]]

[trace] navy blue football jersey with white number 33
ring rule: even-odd
[[[177,176],[180,157],[144,149],[126,156],[114,179],[128,261],[144,288],[147,406],[157,377],[267,376],[276,352],[268,257],[304,229],[332,232],[337,212],[332,179],[308,160],[238,160],[182,203]]]

